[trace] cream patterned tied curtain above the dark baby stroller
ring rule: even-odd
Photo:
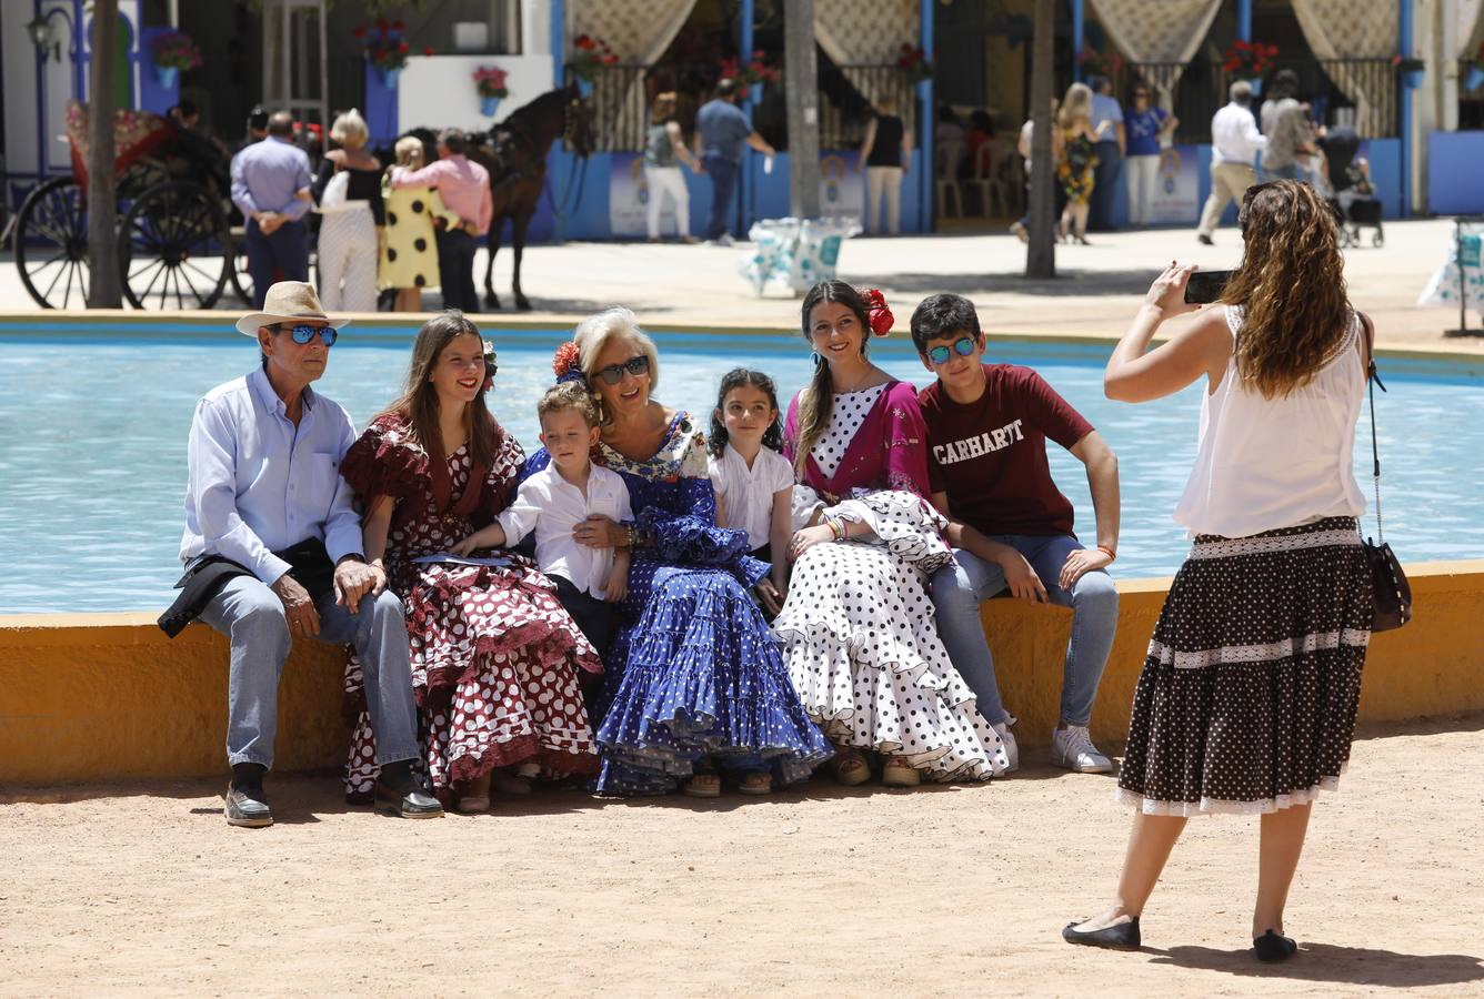
[[[1410,3],[1411,0],[1401,0]],[[1294,0],[1294,15],[1321,59],[1383,59],[1396,53],[1398,0]],[[1388,130],[1396,105],[1396,76],[1389,67],[1334,67],[1325,73],[1355,101],[1355,130]]]

